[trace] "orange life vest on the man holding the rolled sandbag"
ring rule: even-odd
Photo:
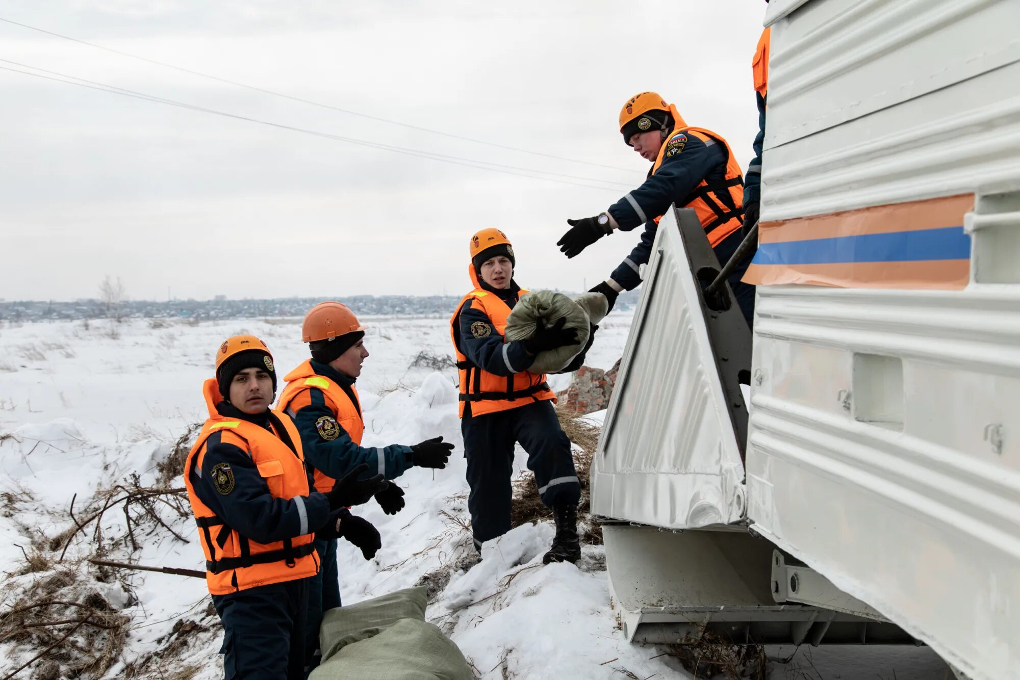
[[[481,290],[474,272],[474,266],[470,264],[467,266],[471,282],[474,283],[474,290],[461,299],[460,304],[457,305],[457,311],[450,319],[450,337],[453,339],[460,377],[458,415],[464,416],[464,404],[468,402],[471,403],[471,415],[481,416],[487,413],[516,409],[534,402],[550,399],[556,401],[556,393],[550,389],[546,383],[545,373],[521,371],[513,375],[496,375],[472,364],[467,356],[460,351],[460,310],[468,300],[474,300],[472,304],[481,307],[489,320],[492,321],[496,332],[500,335],[506,330],[507,317],[510,316],[510,307],[500,300],[499,296]],[[527,291],[521,289],[519,295],[526,294]]]

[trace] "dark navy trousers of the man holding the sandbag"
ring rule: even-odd
[[[460,423],[467,458],[467,508],[476,547],[510,530],[514,442],[527,453],[539,494],[547,506],[576,504],[580,484],[570,439],[563,433],[550,401],[472,417],[464,409]]]

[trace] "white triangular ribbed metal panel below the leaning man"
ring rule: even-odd
[[[744,464],[688,270],[670,210],[592,463],[596,515],[681,529],[744,514]]]

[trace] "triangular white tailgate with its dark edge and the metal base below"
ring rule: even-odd
[[[670,210],[591,471],[592,513],[605,520],[610,595],[624,635],[644,643],[706,633],[737,643],[913,643],[748,532],[740,383],[750,377],[751,336],[728,286],[723,298],[704,299],[718,271],[694,211]],[[838,607],[799,604],[785,582],[795,569]]]

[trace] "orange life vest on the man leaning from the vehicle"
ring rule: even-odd
[[[659,156],[655,159],[655,165],[652,166],[652,174],[655,174],[662,166],[670,141],[679,134],[696,137],[710,146],[721,144],[726,151],[726,173],[723,180],[709,185],[705,179],[702,179],[701,184],[687,197],[677,201],[679,208],[695,209],[695,212],[698,213],[698,219],[705,227],[709,245],[715,248],[722,243],[723,239],[741,228],[744,223],[744,175],[726,140],[704,127],[685,126],[675,105],[670,104],[669,110],[673,114],[676,126],[663,141],[662,148],[659,149]],[[681,203],[682,205],[680,205]]]

